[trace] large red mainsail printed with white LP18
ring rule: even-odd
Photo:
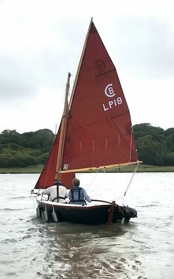
[[[137,159],[129,108],[115,66],[92,22],[69,111],[62,170]]]

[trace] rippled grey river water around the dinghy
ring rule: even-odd
[[[121,205],[131,175],[77,177],[91,198]],[[174,278],[174,173],[137,173],[124,203],[138,218],[112,226],[37,219],[30,190],[38,176],[0,174],[1,278]]]

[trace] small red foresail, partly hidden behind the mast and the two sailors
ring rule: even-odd
[[[59,127],[59,131],[57,133],[53,148],[49,154],[49,157],[47,158],[46,164],[43,168],[42,173],[40,174],[40,177],[36,183],[35,189],[46,189],[49,186],[52,186],[55,181],[55,175],[56,175],[56,166],[57,166],[57,157],[58,157],[58,150],[59,150],[59,140],[60,140],[60,131],[61,131],[61,125]],[[72,179],[75,177],[74,173],[62,173],[61,174],[61,181],[62,184],[67,188],[72,188]]]

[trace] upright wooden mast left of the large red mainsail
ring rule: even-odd
[[[68,73],[68,78],[67,78],[67,83],[66,83],[65,103],[64,103],[64,110],[63,110],[62,123],[61,123],[59,151],[58,151],[57,166],[56,166],[56,176],[55,176],[56,179],[57,178],[60,179],[60,171],[61,171],[62,157],[63,157],[63,148],[64,148],[64,143],[65,143],[70,76],[71,76],[71,74]]]

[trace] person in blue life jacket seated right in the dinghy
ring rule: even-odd
[[[85,189],[79,187],[80,180],[78,178],[74,178],[72,180],[72,184],[73,188],[68,193],[70,204],[86,204],[86,201],[91,202],[91,199],[87,195]]]

